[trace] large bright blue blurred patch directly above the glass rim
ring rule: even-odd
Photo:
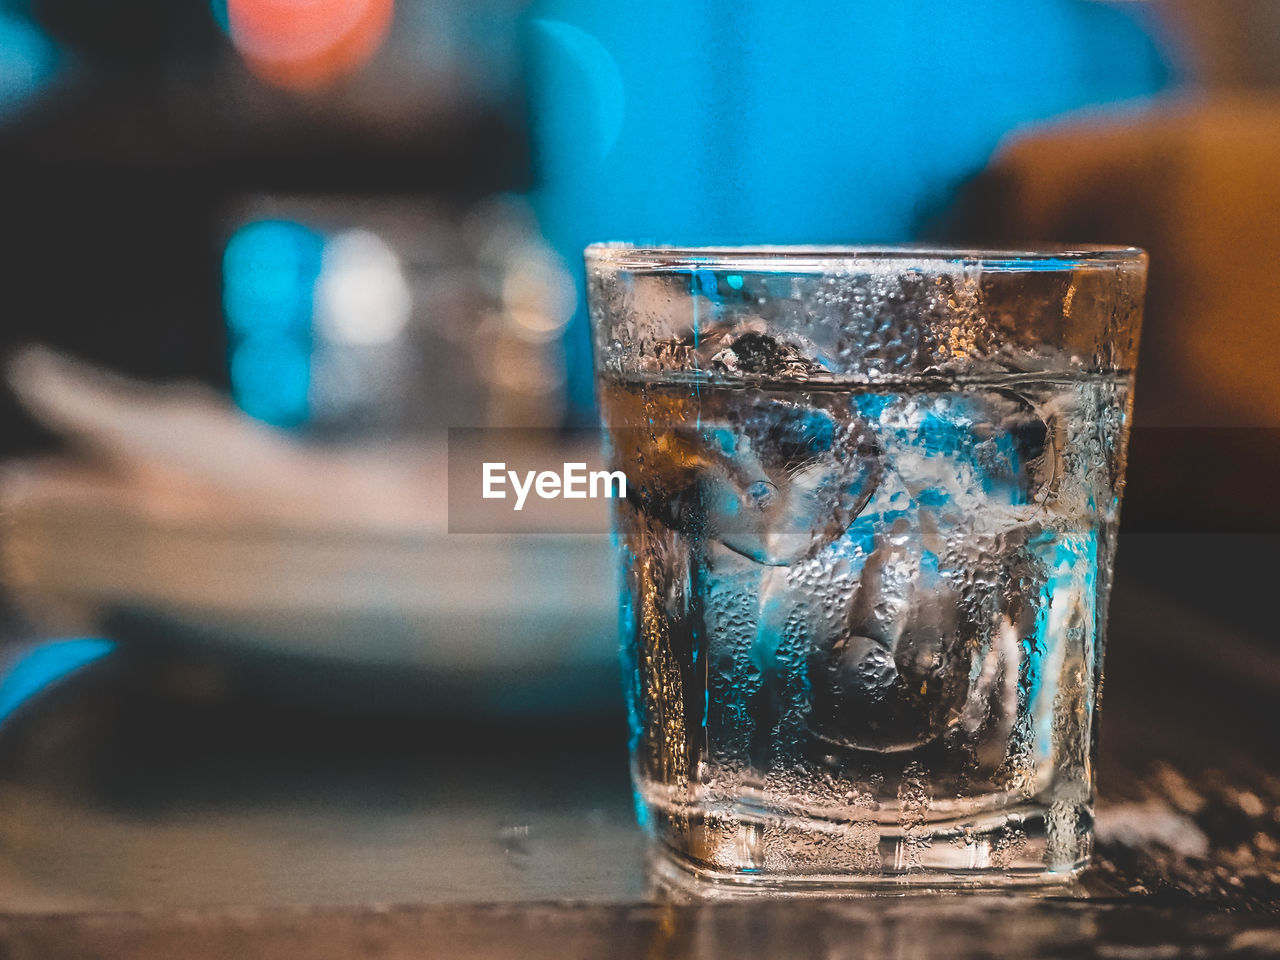
[[[544,230],[570,262],[607,239],[911,239],[1011,131],[1171,83],[1135,6],[540,0]],[[581,310],[566,347],[585,416]]]

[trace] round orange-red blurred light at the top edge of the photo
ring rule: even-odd
[[[255,74],[316,90],[362,67],[390,28],[394,0],[227,0],[237,51]]]

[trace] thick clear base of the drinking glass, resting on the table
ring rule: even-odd
[[[1088,806],[1024,803],[909,824],[649,806],[654,870],[668,884],[812,892],[1070,883],[1088,863]]]

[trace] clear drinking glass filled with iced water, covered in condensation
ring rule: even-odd
[[[586,265],[660,868],[781,890],[1078,872],[1146,253]]]

